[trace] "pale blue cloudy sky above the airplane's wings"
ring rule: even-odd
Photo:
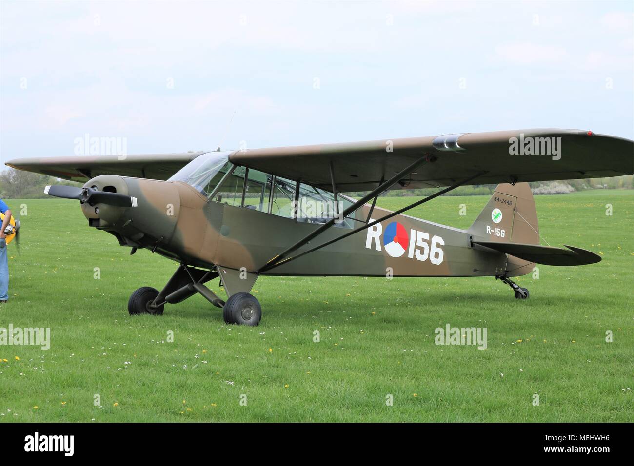
[[[634,139],[634,2],[0,1],[0,160],[560,127]]]

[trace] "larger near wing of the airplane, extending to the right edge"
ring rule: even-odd
[[[479,172],[484,174],[469,184],[607,178],[634,172],[633,141],[563,129],[249,149],[231,153],[230,160],[327,190],[332,190],[332,164],[337,189],[346,192],[372,190],[426,154],[429,162],[395,188],[449,186]]]

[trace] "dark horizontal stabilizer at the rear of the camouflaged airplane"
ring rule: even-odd
[[[494,241],[474,241],[474,244],[495,249],[496,251],[519,257],[536,264],[549,266],[583,266],[601,260],[594,252],[574,246],[565,245],[568,249],[538,244],[498,243]]]

